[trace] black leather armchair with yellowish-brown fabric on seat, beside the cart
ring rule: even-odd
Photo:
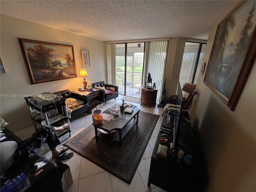
[[[66,106],[68,112],[70,112],[70,118],[76,118],[80,114],[86,114],[86,112],[90,110],[90,98],[88,96],[74,94],[69,89],[58,91],[53,94],[60,96],[60,99],[66,99]],[[75,99],[75,102],[77,102],[75,106],[73,106],[73,104],[70,104],[69,106],[68,104],[69,100],[72,101],[72,99]]]

